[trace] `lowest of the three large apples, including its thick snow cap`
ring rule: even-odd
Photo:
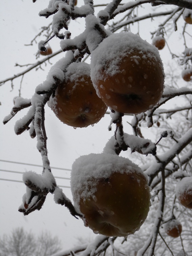
[[[150,205],[147,176],[129,159],[89,154],[72,165],[74,206],[96,234],[126,237],[139,230]]]

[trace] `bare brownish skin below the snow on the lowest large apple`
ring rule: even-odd
[[[95,233],[126,237],[142,226],[149,201],[149,188],[141,174],[114,173],[99,180],[94,197],[81,199],[80,211]]]

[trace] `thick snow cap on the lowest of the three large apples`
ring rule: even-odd
[[[122,156],[91,153],[77,158],[72,165],[71,171],[71,192],[74,206],[79,209],[78,204],[81,198],[85,199],[93,196],[97,191],[97,182],[95,180],[108,178],[115,172],[138,172],[145,175],[138,165]],[[145,177],[147,179],[147,175]]]

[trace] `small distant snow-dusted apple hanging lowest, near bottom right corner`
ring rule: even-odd
[[[163,225],[168,236],[178,237],[182,232],[182,225],[177,219],[171,219]]]

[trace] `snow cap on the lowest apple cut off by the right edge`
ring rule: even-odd
[[[182,180],[177,182],[175,192],[177,198],[186,192],[187,194],[192,195],[192,177],[184,177]]]

